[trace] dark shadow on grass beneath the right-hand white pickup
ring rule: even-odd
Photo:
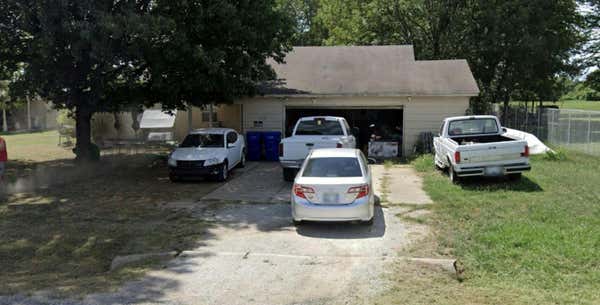
[[[461,178],[460,186],[470,191],[515,191],[515,192],[542,192],[544,189],[526,176],[519,180],[510,180],[506,177],[465,177]]]

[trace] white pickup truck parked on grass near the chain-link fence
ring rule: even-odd
[[[495,116],[447,118],[433,146],[435,165],[448,169],[453,182],[467,176],[519,179],[531,169],[527,141],[507,136]]]

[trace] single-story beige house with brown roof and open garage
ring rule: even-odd
[[[464,115],[479,94],[466,60],[415,60],[412,46],[295,47],[285,63],[271,61],[277,80],[260,95],[215,107],[216,125],[248,131],[289,134],[302,116],[345,117],[360,131],[369,126],[395,130],[402,152],[410,155],[422,132],[436,132],[442,119]],[[206,127],[206,109],[177,113],[175,138],[190,127]]]

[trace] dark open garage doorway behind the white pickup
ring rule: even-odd
[[[290,136],[299,118],[305,116],[344,117],[355,129],[358,147],[368,155],[369,141],[398,142],[398,156],[402,154],[404,113],[399,108],[303,108],[287,107],[285,133]],[[374,125],[374,128],[370,126]],[[373,137],[374,136],[374,137]]]

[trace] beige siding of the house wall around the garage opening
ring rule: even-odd
[[[248,131],[285,131],[286,107],[306,108],[403,108],[405,155],[412,154],[419,134],[436,132],[442,119],[464,115],[469,107],[469,97],[260,97],[238,102],[243,109],[243,129]],[[261,122],[258,127],[255,122]]]

